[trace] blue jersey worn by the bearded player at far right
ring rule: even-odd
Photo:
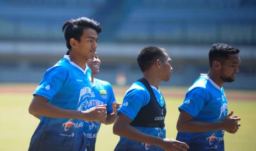
[[[206,74],[195,80],[188,89],[179,111],[194,117],[194,121],[217,122],[227,115],[227,100],[220,88]],[[224,130],[208,132],[178,132],[177,140],[186,142],[189,150],[224,150]]]

